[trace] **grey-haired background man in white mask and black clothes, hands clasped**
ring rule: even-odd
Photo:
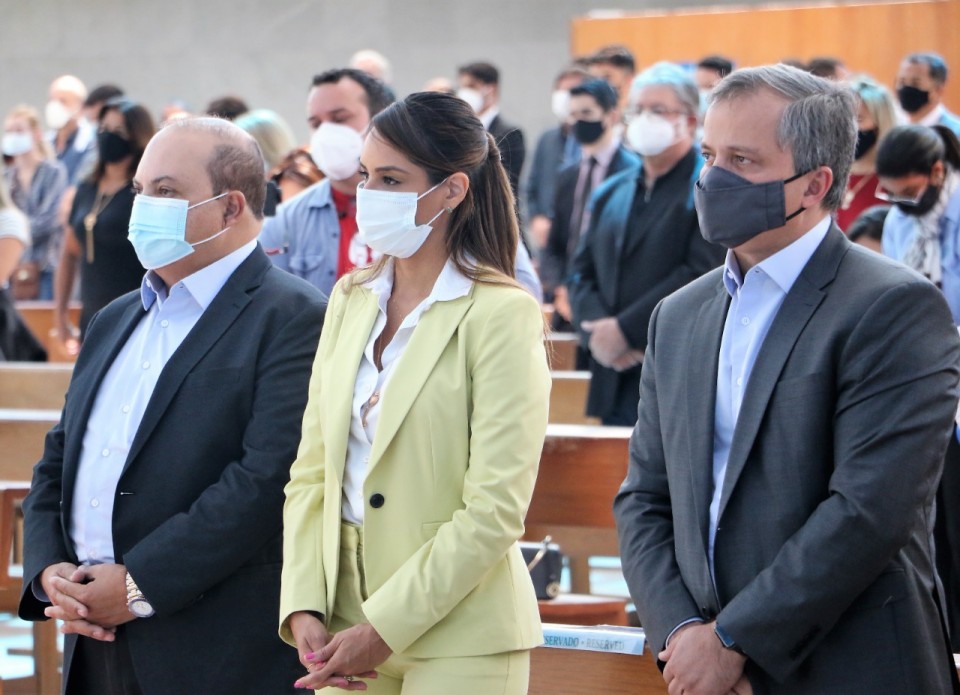
[[[607,425],[637,418],[640,363],[657,303],[716,267],[693,206],[700,171],[694,144],[699,94],[690,75],[657,63],[634,81],[627,142],[642,165],[593,193],[568,291],[573,324],[590,350],[587,414]]]

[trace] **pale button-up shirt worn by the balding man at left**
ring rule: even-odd
[[[160,373],[233,272],[256,248],[251,241],[172,288],[153,271],[140,286],[146,315],[107,370],[83,435],[70,538],[84,564],[114,562],[113,503],[130,445]],[[171,455],[176,442],[170,442]]]

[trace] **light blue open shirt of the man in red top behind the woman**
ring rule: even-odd
[[[340,220],[330,180],[315,183],[277,206],[276,216],[263,223],[260,243],[275,266],[329,297],[337,282],[340,253]],[[516,277],[538,302],[543,301],[543,286],[523,244],[517,247]]]

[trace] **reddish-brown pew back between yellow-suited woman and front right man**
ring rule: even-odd
[[[631,432],[629,427],[547,426],[524,538],[553,537],[570,560],[574,593],[590,593],[591,556],[620,554],[613,498],[627,474]]]

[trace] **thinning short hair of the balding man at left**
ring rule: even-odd
[[[179,118],[164,126],[164,130],[169,128],[199,131],[213,136],[218,142],[207,161],[207,176],[213,194],[240,191],[253,216],[258,220],[263,219],[267,183],[263,177],[263,153],[253,137],[222,118]]]

